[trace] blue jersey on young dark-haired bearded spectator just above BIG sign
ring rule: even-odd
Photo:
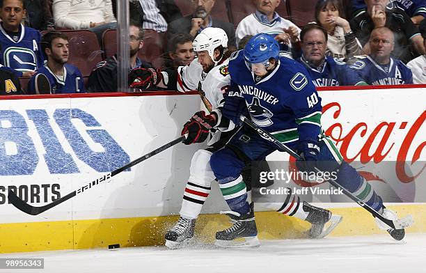
[[[49,79],[52,94],[86,93],[80,70],[74,65],[65,63],[63,66],[63,79],[60,79],[58,76],[54,75],[52,70],[50,70],[47,65],[43,65],[41,68],[39,68],[38,72],[33,75],[33,77],[31,77],[28,84],[28,92],[31,94],[36,93],[36,77],[40,73],[46,75],[47,79]]]

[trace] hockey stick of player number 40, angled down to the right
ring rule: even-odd
[[[260,134],[260,136],[262,138],[267,139],[267,141],[271,141],[272,143],[274,143],[279,148],[279,150],[285,151],[286,153],[290,154],[292,157],[296,158],[297,160],[303,160],[299,155],[297,155],[297,153],[294,153],[294,150],[288,148],[283,143],[281,143],[280,141],[278,141],[278,139],[276,139],[272,134],[269,134],[269,132],[267,132],[267,131],[263,130],[262,128],[258,127],[258,125],[255,125],[255,123],[253,123],[253,121],[249,120],[245,116],[240,116],[240,118],[241,118],[241,120],[244,123],[246,123],[246,125],[252,127],[256,132],[258,132],[258,134]],[[319,172],[320,170],[315,167],[315,171]],[[393,228],[393,229],[408,228],[414,222],[413,217],[411,215],[408,215],[407,217],[404,217],[402,219],[396,219],[396,220],[387,219],[387,218],[381,216],[381,214],[379,214],[379,212],[377,212],[374,209],[372,209],[370,207],[370,205],[367,205],[363,201],[359,200],[356,196],[354,196],[352,194],[352,192],[349,192],[347,189],[345,189],[344,187],[340,186],[338,184],[338,182],[336,182],[335,180],[330,179],[330,180],[328,180],[328,182],[331,185],[333,185],[334,187],[342,189],[342,192],[347,197],[351,198],[353,201],[355,201],[356,203],[358,203],[358,205],[361,205],[361,207],[365,208],[365,210],[368,210],[368,212],[370,212],[373,215],[373,217],[376,217],[376,218],[380,219],[381,221],[384,222],[384,224],[386,224],[390,228]]]

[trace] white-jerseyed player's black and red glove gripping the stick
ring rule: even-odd
[[[213,115],[206,116],[204,111],[196,112],[196,114],[184,124],[182,135],[188,133],[188,137],[183,143],[189,145],[205,141],[214,125],[216,125],[216,119]]]

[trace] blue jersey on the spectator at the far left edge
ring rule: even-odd
[[[22,24],[20,36],[10,37],[0,24],[0,64],[14,72],[17,77],[22,77],[22,72],[36,71],[43,65],[44,60],[40,38],[38,30]]]

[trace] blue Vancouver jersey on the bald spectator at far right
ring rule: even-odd
[[[377,64],[370,56],[356,61],[351,68],[370,85],[413,84],[411,70],[402,61],[392,57],[388,68]]]

